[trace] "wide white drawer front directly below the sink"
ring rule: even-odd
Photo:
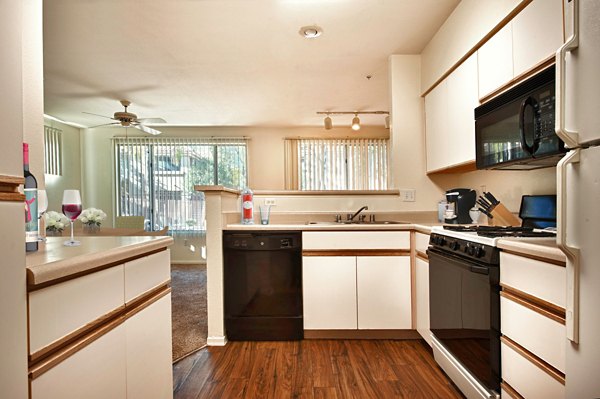
[[[409,231],[314,231],[302,233],[302,249],[406,249]]]

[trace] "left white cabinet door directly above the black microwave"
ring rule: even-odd
[[[477,50],[477,69],[479,98],[485,97],[513,78],[510,23]]]

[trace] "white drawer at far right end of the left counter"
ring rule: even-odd
[[[171,258],[168,249],[125,263],[125,302],[143,295],[170,279]]]

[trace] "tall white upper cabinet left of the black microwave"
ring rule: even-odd
[[[473,110],[477,105],[474,54],[425,96],[427,172],[475,160]]]

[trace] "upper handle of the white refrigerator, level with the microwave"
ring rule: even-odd
[[[579,147],[579,135],[577,132],[569,131],[565,127],[565,88],[566,88],[566,56],[568,51],[579,47],[579,0],[572,0],[573,9],[571,13],[573,33],[565,43],[556,51],[556,118],[554,130],[556,135],[568,148]]]

